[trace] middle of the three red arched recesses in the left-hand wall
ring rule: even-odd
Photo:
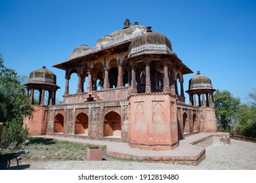
[[[88,135],[88,116],[83,112],[76,116],[75,135],[77,134]]]

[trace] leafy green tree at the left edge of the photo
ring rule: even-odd
[[[28,129],[22,127],[23,118],[31,116],[33,108],[26,99],[21,77],[3,63],[0,54],[0,122],[5,122],[1,145],[8,146],[13,141],[22,142],[28,135]]]

